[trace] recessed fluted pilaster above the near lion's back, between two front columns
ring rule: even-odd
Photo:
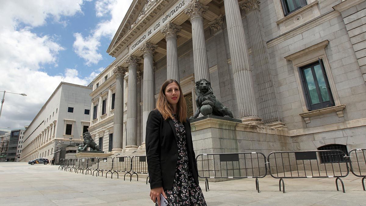
[[[231,80],[222,29],[223,16],[220,15],[219,18],[210,22],[209,25],[215,32],[214,36],[216,42],[217,70],[219,72],[221,102],[225,107],[228,107],[232,111]]]

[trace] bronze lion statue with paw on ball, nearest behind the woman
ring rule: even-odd
[[[200,79],[196,82],[196,105],[197,109],[190,119],[195,119],[198,117],[199,113],[202,115],[216,115],[220,117],[234,118],[229,108],[224,107],[224,105],[216,99],[213,95],[211,88],[211,82],[206,79]]]

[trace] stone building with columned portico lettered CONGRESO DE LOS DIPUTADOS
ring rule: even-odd
[[[243,130],[277,135],[225,151],[365,147],[365,8],[365,0],[133,0],[107,50],[116,59],[93,81],[91,133],[113,153],[143,148],[162,83],[180,82],[191,116],[195,81],[206,78]],[[197,143],[207,127],[198,125]]]

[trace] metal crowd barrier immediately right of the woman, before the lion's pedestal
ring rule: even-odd
[[[258,178],[267,175],[266,156],[261,152],[200,154],[196,161],[206,191],[209,178],[255,178],[255,190],[259,192]]]

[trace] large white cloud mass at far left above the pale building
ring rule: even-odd
[[[82,12],[83,0],[1,0],[0,4],[0,90],[27,94],[5,95],[0,126],[20,127],[30,124],[61,80],[87,85],[95,75],[82,78],[75,69],[66,69],[64,76],[42,71],[45,65],[57,67],[57,55],[64,48],[54,36],[31,31],[50,19],[66,22],[64,17]]]

